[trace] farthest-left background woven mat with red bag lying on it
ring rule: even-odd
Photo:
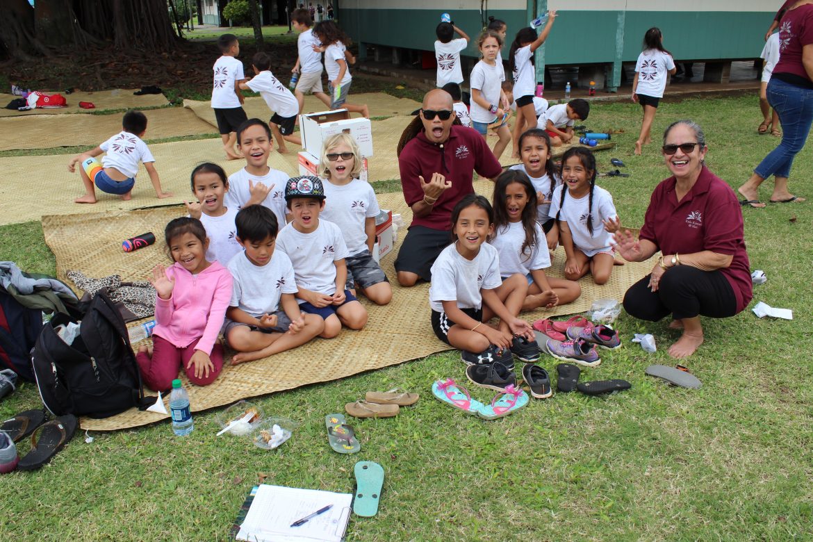
[[[67,101],[67,107],[57,109],[32,109],[29,111],[16,111],[0,109],[0,117],[19,117],[21,115],[57,115],[59,113],[90,113],[91,111],[105,111],[107,109],[138,109],[139,107],[166,106],[167,97],[163,94],[145,94],[136,96],[133,93],[138,89],[99,90],[98,92],[83,92],[77,90],[66,94],[61,90],[43,91],[46,94],[62,94]],[[12,94],[0,94],[0,107],[5,107],[11,100],[21,98]],[[79,102],[92,102],[95,109],[82,109]]]

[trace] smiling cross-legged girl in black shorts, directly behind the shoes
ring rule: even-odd
[[[497,249],[485,242],[494,227],[485,197],[463,196],[451,221],[454,243],[432,266],[432,328],[438,339],[461,350],[460,358],[468,365],[501,362],[513,367],[512,351],[535,340],[531,325],[517,318],[528,295],[528,281],[519,274],[500,279]],[[494,316],[500,323],[492,327],[488,322]]]

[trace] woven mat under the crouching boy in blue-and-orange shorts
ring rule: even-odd
[[[192,199],[189,173],[198,163],[218,163],[228,175],[246,165],[245,160],[226,160],[220,137],[160,143],[150,145],[150,151],[155,157],[155,168],[163,189],[172,192],[172,197],[157,199],[150,176],[141,166],[133,199],[123,202],[118,196],[97,190],[98,202],[93,205],[73,202],[75,197],[84,193],[84,189],[79,172],[67,171],[71,154],[0,158],[0,201],[3,202],[0,224],[39,220],[43,215],[98,213],[180,203]],[[268,165],[288,175],[297,175],[296,167],[276,152],[272,152]],[[141,232],[133,235],[138,233]]]

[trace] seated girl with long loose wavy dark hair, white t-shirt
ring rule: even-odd
[[[528,279],[522,310],[566,305],[581,295],[573,280],[545,275],[550,256],[545,232],[537,223],[537,190],[522,171],[508,170],[494,184],[494,236],[489,241],[499,254],[503,280],[519,273]]]

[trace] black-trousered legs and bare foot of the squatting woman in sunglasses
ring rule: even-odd
[[[631,316],[657,322],[672,313],[669,327],[683,335],[669,347],[673,358],[688,358],[703,343],[700,316],[727,318],[737,314],[737,297],[720,271],[672,267],[663,274],[659,288],[650,288],[650,276],[633,284],[624,295],[624,310]]]

